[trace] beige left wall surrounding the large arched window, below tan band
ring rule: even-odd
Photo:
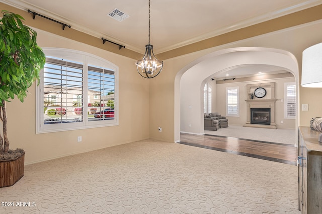
[[[84,51],[119,66],[119,125],[36,134],[33,85],[24,103],[17,99],[7,103],[10,148],[25,149],[26,164],[149,138],[150,82],[137,74],[135,60],[41,30],[37,33],[41,47]],[[81,143],[77,136],[82,136]]]

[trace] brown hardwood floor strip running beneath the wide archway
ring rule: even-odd
[[[180,134],[181,144],[296,165],[294,145],[213,135]]]

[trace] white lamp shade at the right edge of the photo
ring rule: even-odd
[[[301,86],[322,88],[322,43],[303,51]]]

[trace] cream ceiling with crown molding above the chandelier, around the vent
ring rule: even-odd
[[[30,9],[142,54],[148,44],[148,0],[0,2]],[[162,53],[319,4],[320,0],[151,0],[151,44],[155,54]],[[128,15],[127,19],[119,22],[108,17],[114,9]]]

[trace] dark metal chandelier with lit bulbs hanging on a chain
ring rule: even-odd
[[[143,59],[136,61],[136,69],[144,78],[156,77],[162,70],[163,62],[156,59],[153,53],[153,45],[150,44],[150,0],[149,0],[149,44],[145,46]]]

